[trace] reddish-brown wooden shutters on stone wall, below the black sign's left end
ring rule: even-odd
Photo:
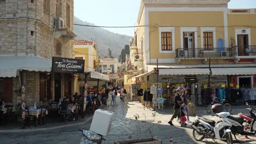
[[[53,88],[51,83],[51,75],[45,73],[39,74],[39,100],[46,101],[53,99]]]

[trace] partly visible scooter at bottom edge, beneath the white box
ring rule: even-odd
[[[92,144],[100,144],[102,142],[102,140],[106,140],[103,138],[102,135],[94,133],[93,131],[90,130],[82,130],[82,129],[78,129],[79,131],[82,131],[83,135],[85,137],[82,137],[82,139],[80,140],[80,144],[88,144],[88,143],[92,143]]]

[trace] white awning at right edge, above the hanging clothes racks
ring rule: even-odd
[[[256,68],[212,68],[212,75],[255,75]]]

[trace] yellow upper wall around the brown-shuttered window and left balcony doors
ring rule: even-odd
[[[224,39],[223,11],[149,11],[150,58],[175,58],[175,53],[159,52],[158,27],[175,27],[175,49],[181,48],[181,28],[197,26],[197,47],[201,48],[200,27],[216,27],[216,46],[219,38]]]

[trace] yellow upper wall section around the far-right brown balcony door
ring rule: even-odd
[[[256,14],[229,14],[228,26],[230,46],[235,46],[234,40],[237,41],[235,39],[236,28],[250,28],[251,45],[256,45]]]

